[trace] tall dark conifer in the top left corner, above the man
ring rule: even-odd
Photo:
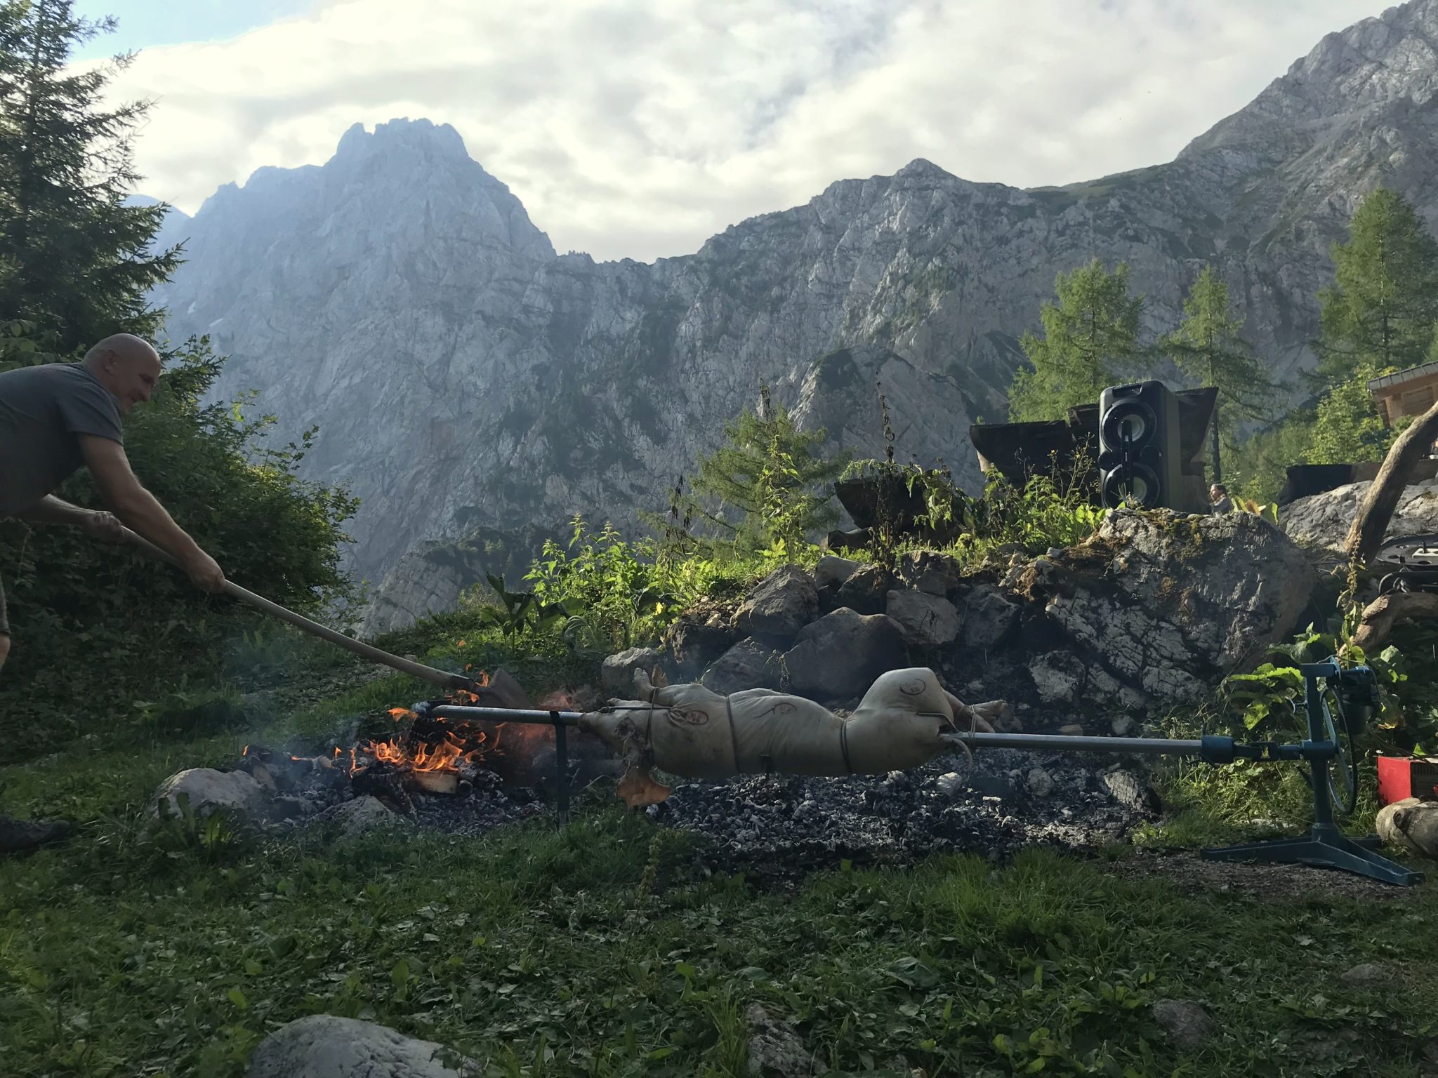
[[[62,355],[151,335],[160,312],[145,293],[178,264],[178,249],[148,250],[168,207],[125,204],[148,102],[101,101],[132,57],[68,68],[76,45],[114,29],[72,7],[0,0],[0,318],[42,326]]]

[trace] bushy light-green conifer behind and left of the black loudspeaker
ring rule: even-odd
[[[1094,259],[1054,282],[1057,303],[1040,312],[1044,336],[1025,333],[1032,369],[1020,369],[1009,390],[1014,423],[1061,420],[1077,404],[1093,404],[1104,387],[1122,381],[1142,358],[1139,318],[1143,296],[1129,295],[1129,266],[1109,273]]]

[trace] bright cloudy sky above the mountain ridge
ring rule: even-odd
[[[557,250],[687,254],[915,158],[1068,184],[1172,160],[1379,0],[76,0],[138,55],[138,190],[194,213],[348,126],[453,125]]]

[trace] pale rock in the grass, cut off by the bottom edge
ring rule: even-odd
[[[433,1041],[416,1041],[387,1026],[335,1015],[286,1022],[260,1041],[246,1078],[469,1078],[475,1065],[454,1061]]]

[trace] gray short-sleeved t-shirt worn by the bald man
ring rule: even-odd
[[[119,402],[83,365],[0,374],[0,516],[30,509],[85,463],[81,434],[124,440]]]

